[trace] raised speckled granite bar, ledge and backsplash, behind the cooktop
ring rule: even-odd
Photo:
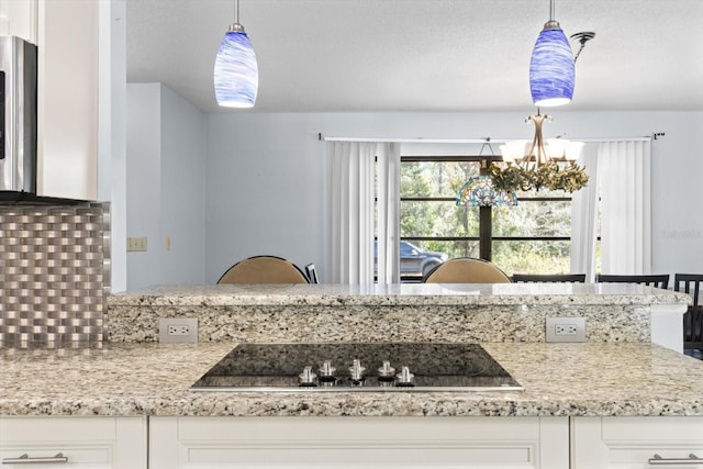
[[[583,316],[588,340],[649,342],[650,305],[688,301],[623,283],[167,286],[110,297],[107,328],[156,342],[159,317],[196,317],[199,342],[544,342],[545,317]]]

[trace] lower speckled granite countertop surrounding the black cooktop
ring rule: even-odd
[[[703,362],[647,343],[484,343],[524,392],[191,392],[232,343],[0,348],[0,415],[703,415]]]

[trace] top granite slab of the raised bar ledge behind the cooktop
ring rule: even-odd
[[[398,283],[157,286],[114,293],[108,308],[129,305],[511,305],[672,304],[689,295],[633,283]]]

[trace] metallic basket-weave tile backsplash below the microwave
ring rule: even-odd
[[[100,342],[110,204],[0,205],[0,343]]]

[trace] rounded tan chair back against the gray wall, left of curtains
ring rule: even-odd
[[[230,267],[217,283],[310,283],[305,273],[288,259],[253,256]]]

